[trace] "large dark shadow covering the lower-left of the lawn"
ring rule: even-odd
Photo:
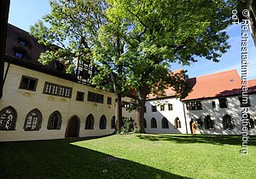
[[[1,142],[0,178],[186,178],[72,144],[81,140]]]

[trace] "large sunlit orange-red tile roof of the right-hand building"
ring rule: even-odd
[[[183,101],[241,94],[241,78],[236,70],[189,78],[188,82],[192,90]]]

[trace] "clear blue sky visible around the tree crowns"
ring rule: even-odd
[[[11,0],[9,9],[9,23],[29,32],[29,27],[50,12],[47,0]],[[230,12],[230,16],[231,16]],[[183,67],[188,70],[189,78],[206,75],[213,72],[223,72],[236,69],[241,73],[241,26],[232,25],[227,29],[230,35],[231,48],[225,53],[218,63],[201,59],[190,66],[172,65],[172,69]],[[247,78],[256,78],[256,47],[251,35],[248,41],[248,68]]]

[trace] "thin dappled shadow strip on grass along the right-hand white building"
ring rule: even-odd
[[[241,136],[218,136],[218,135],[138,135],[146,141],[173,141],[177,143],[210,143],[215,145],[239,145]],[[256,136],[249,136],[248,145],[256,146]]]

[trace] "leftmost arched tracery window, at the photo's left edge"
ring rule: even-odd
[[[5,107],[0,111],[0,130],[15,130],[17,113],[14,107]]]

